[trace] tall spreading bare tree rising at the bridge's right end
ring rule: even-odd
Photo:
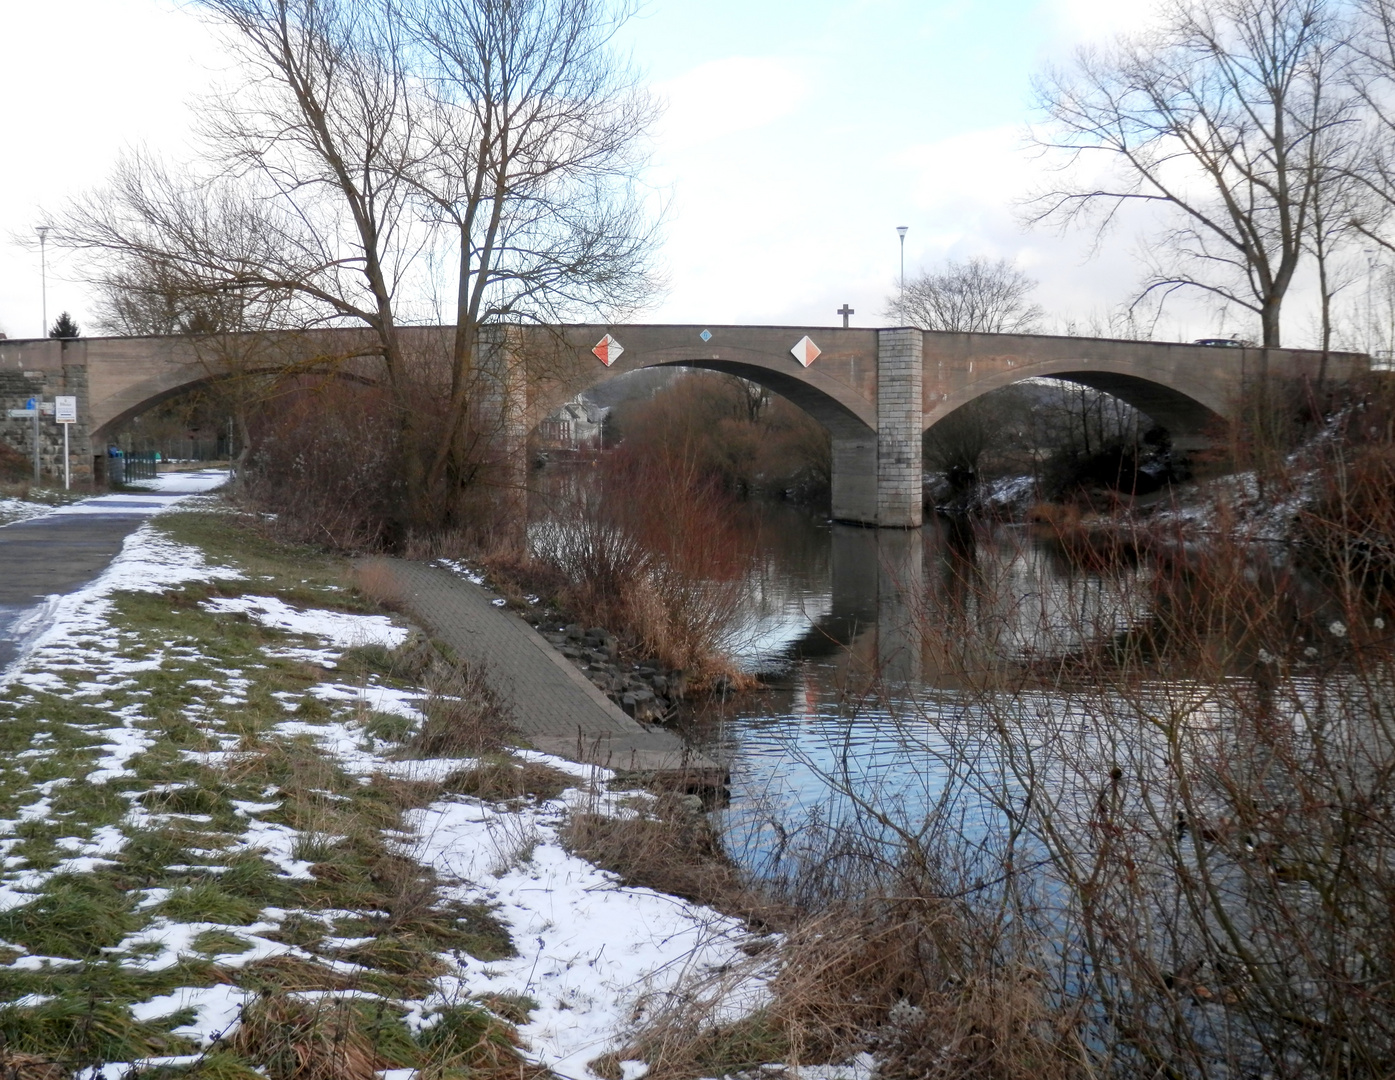
[[[1328,133],[1355,119],[1343,92],[1343,28],[1327,0],[1173,0],[1156,29],[1083,50],[1038,82],[1039,144],[1066,181],[1034,220],[1126,205],[1163,211],[1144,293],[1201,290],[1258,318],[1281,343],[1281,314],[1332,177]],[[1080,166],[1102,158],[1105,174]]]

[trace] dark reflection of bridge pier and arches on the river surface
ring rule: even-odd
[[[756,671],[831,663],[862,692],[961,688],[965,663],[1060,653],[1148,617],[1130,585],[1141,571],[1084,571],[1024,527],[862,529],[777,507],[760,534],[752,621],[734,642]]]

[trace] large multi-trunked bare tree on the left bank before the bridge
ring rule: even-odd
[[[653,236],[635,176],[653,106],[610,39],[625,0],[197,0],[244,80],[195,176],[134,159],[61,240],[208,296],[360,325],[402,426],[409,525],[460,523],[481,440],[480,328],[638,304]],[[444,387],[402,329],[441,311]],[[497,400],[497,395],[495,395]],[[484,433],[487,435],[488,433]]]

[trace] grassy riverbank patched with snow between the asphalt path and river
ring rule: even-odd
[[[585,1077],[685,978],[763,1000],[738,920],[564,848],[572,807],[619,805],[610,773],[516,751],[491,766],[559,779],[491,802],[478,762],[410,756],[410,633],[209,508],[32,618],[0,685],[0,1062]]]

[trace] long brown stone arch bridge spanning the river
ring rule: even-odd
[[[451,332],[448,327],[403,331],[423,352],[444,347]],[[725,371],[788,398],[829,430],[834,518],[890,527],[921,523],[921,433],[1009,384],[1052,377],[1108,391],[1186,447],[1232,407],[1246,380],[1315,378],[1322,366],[1321,353],[1297,349],[907,328],[632,324],[494,327],[485,335],[481,354],[498,375],[502,399],[511,402],[516,437],[576,392],[629,371],[661,366]],[[123,423],[219,377],[220,353],[208,340],[0,340],[0,399],[8,410],[31,396],[75,395],[73,466],[75,474],[91,474],[91,455],[100,453]],[[372,378],[371,363],[361,359],[371,353],[371,340],[360,329],[286,333],[272,346],[265,336],[255,342],[273,354],[272,367],[292,353],[340,363],[360,357],[347,363],[357,377]],[[247,370],[246,356],[240,363]],[[1336,381],[1368,370],[1368,357],[1355,353],[1331,353],[1325,367]],[[4,441],[29,452],[29,421],[0,419],[0,424]],[[46,467],[61,472],[61,433],[47,417],[40,428]]]

